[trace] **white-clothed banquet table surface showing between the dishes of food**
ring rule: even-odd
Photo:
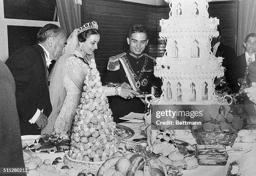
[[[120,125],[126,126],[131,128],[135,134],[128,140],[133,140],[135,138],[143,138],[141,133],[139,133],[138,129],[141,123],[119,123]],[[179,139],[179,138],[178,138]],[[183,141],[186,141],[188,143],[196,144],[195,139],[181,139]],[[235,143],[233,147],[250,147],[252,146],[252,150],[248,153],[228,153],[228,163],[225,166],[198,166],[195,169],[191,170],[182,170],[183,176],[225,176],[228,171],[229,163],[233,161],[239,161],[242,168],[242,176],[254,176],[256,174],[256,143]],[[120,144],[121,148],[124,148],[124,143]],[[45,159],[54,160],[56,157],[64,157],[64,153],[53,153],[53,154],[44,154],[40,155],[40,153],[37,153],[37,155],[44,161]],[[37,173],[36,170],[29,171],[27,174],[28,176],[43,176],[42,174]],[[50,175],[47,175],[50,176]]]

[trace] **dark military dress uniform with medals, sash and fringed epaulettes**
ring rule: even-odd
[[[159,87],[159,79],[154,76],[155,58],[150,57],[145,53],[136,55],[131,50],[127,53],[110,57],[108,62],[108,70],[104,78],[103,84],[123,83],[128,84],[129,80],[125,73],[120,58],[127,65],[127,70],[131,73],[131,77],[135,80],[137,91],[151,93],[151,87],[155,85]],[[125,99],[120,96],[109,97],[110,108],[113,112],[114,121],[116,123],[122,122],[119,118],[127,115],[130,112],[144,113],[145,104],[140,98],[134,97],[132,99]]]

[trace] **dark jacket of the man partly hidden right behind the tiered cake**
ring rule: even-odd
[[[233,48],[224,45],[223,43],[220,43],[215,56],[218,57],[223,57],[223,61],[222,61],[222,66],[226,68],[225,70],[225,77],[226,77],[226,81],[229,84],[232,74],[231,74],[231,67],[232,67],[232,63],[233,60],[236,59],[236,52]],[[229,86],[230,87],[230,86]],[[218,88],[217,88],[218,89]],[[232,89],[232,88],[231,88]]]

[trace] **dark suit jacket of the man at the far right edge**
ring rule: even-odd
[[[234,93],[237,93],[240,89],[238,85],[238,78],[244,77],[244,72],[246,69],[246,56],[245,53],[239,55],[236,59],[233,60],[231,67],[231,79],[230,79],[230,88]]]

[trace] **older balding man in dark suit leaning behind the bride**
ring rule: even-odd
[[[16,50],[6,61],[16,84],[21,135],[41,134],[51,113],[47,67],[65,53],[66,36],[47,24],[37,33],[37,44]]]

